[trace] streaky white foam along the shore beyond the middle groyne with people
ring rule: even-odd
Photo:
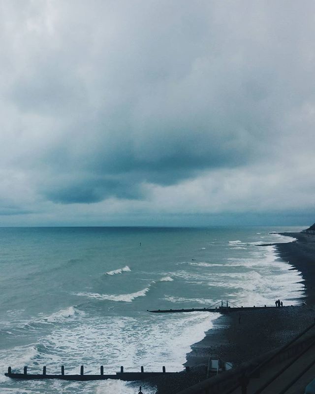
[[[272,241],[270,236],[267,238],[269,242]],[[241,245],[238,243],[237,246]],[[274,299],[278,298],[285,304],[299,304],[298,298],[303,296],[304,285],[300,272],[290,269],[292,266],[277,256],[277,249],[273,245],[252,247],[246,252],[246,257],[231,257],[222,263],[187,264],[199,267],[200,270],[189,272],[183,269],[174,272],[172,276],[185,280],[186,283],[206,282],[215,291],[221,288],[221,294],[225,294],[227,299],[234,299],[237,304],[274,305]],[[236,271],[229,267],[239,268]]]

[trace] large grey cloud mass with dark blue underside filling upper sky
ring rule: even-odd
[[[3,7],[1,165],[39,199],[145,200],[146,184],[313,155],[312,1]]]

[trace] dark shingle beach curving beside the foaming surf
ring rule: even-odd
[[[209,357],[213,354],[235,366],[277,349],[314,322],[315,317],[315,235],[283,233],[296,238],[289,243],[275,244],[284,261],[302,273],[305,298],[301,306],[242,311],[220,316],[206,336],[191,346],[186,366],[189,374],[157,379],[158,394],[177,393],[207,377]],[[239,316],[241,316],[239,322]]]

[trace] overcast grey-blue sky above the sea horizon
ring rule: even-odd
[[[0,226],[315,221],[315,2],[0,0]]]

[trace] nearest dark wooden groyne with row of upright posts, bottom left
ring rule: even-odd
[[[143,380],[146,378],[155,377],[158,375],[170,375],[177,372],[166,372],[165,366],[162,367],[161,372],[144,372],[143,366],[140,368],[140,372],[124,372],[124,367],[121,366],[120,372],[116,372],[116,374],[104,374],[103,365],[100,366],[100,373],[95,375],[85,375],[84,374],[84,366],[81,365],[80,374],[78,375],[67,375],[64,373],[64,366],[61,367],[61,374],[47,374],[46,366],[43,367],[43,373],[41,374],[32,374],[28,373],[28,367],[24,367],[23,373],[15,373],[12,372],[12,368],[8,367],[8,372],[5,373],[5,376],[12,379],[61,379],[61,380],[78,380],[78,381],[88,381],[88,380],[106,380],[106,379],[120,379],[124,381],[134,381],[134,380]],[[186,371],[189,372],[189,367],[186,368]]]

